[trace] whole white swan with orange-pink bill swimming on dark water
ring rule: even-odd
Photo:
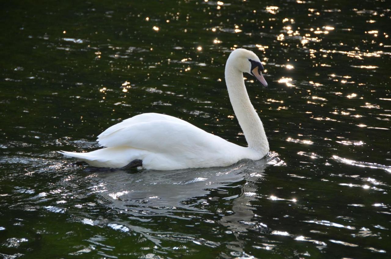
[[[254,52],[235,49],[225,66],[230,101],[248,147],[238,146],[194,125],[160,113],[143,113],[103,131],[102,149],[88,153],[58,151],[94,167],[175,170],[221,167],[242,159],[259,160],[269,151],[264,126],[248,97],[243,73],[255,76],[266,88],[264,67]]]

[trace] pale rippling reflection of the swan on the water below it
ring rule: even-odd
[[[104,198],[102,204],[109,211],[114,211],[111,215],[116,216],[104,220],[103,224],[108,227],[137,232],[158,246],[163,240],[220,246],[219,242],[201,238],[205,235],[194,234],[197,225],[204,229],[206,223],[214,223],[207,236],[213,235],[212,228],[216,227],[221,229],[220,233],[233,234],[235,240],[226,246],[242,253],[244,244],[239,235],[254,225],[249,223],[254,218],[251,201],[256,197],[256,182],[263,180],[264,169],[269,164],[276,164],[276,160],[277,157],[267,157],[207,169],[94,173],[88,176],[95,182],[89,189],[98,200]],[[213,202],[220,202],[220,205]],[[94,215],[86,216],[94,220]],[[155,220],[163,220],[168,225],[165,228],[159,223],[159,229],[153,229]],[[178,223],[194,227],[190,231],[192,234],[173,230],[182,232],[183,225],[182,228],[169,227]]]

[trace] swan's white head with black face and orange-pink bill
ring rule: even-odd
[[[246,49],[235,49],[228,57],[228,62],[232,62],[240,72],[253,75],[265,88],[267,87],[267,82],[262,75],[264,66],[254,52]]]

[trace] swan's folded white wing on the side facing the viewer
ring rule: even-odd
[[[165,117],[163,120],[131,121],[132,123],[124,121],[119,123],[121,126],[113,128],[118,124],[114,125],[111,127],[113,129],[108,129],[110,131],[106,130],[105,134],[99,135],[98,141],[105,147],[129,146],[166,154],[194,153],[203,150],[213,152],[231,144],[188,122],[175,119]]]

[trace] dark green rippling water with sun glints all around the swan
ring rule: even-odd
[[[1,5],[2,257],[390,257],[389,2]],[[245,146],[224,83],[236,47],[267,70],[266,90],[245,75],[266,158],[93,172],[55,152],[145,112]]]

